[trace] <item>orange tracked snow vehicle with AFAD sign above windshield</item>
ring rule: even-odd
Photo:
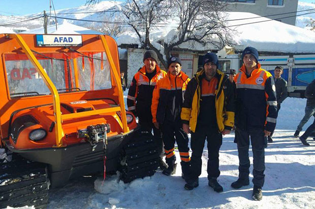
[[[125,182],[154,173],[152,137],[125,111],[112,37],[0,34],[0,56],[1,146],[21,156],[0,164],[0,207],[45,207],[47,179],[62,186],[104,171],[105,159],[106,171],[122,162]]]

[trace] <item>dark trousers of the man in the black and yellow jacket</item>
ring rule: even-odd
[[[207,172],[208,179],[217,178],[220,175],[219,171],[219,149],[222,145],[222,134],[217,128],[197,124],[195,133],[192,133],[191,148],[191,178],[198,179],[201,174],[202,167],[202,152],[207,139],[208,145],[208,164]]]

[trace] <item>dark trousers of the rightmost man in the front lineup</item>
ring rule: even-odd
[[[239,178],[247,179],[249,176],[250,161],[248,156],[249,137],[251,149],[254,157],[253,184],[258,187],[264,186],[265,181],[265,137],[263,129],[249,129],[242,131],[235,130],[235,141],[237,142],[238,159],[239,159]]]

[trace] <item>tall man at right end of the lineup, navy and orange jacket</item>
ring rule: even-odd
[[[272,75],[261,68],[258,51],[247,47],[242,53],[243,65],[234,77],[236,85],[235,141],[239,158],[239,178],[235,189],[249,185],[249,138],[253,150],[253,195],[261,200],[265,180],[265,147],[267,136],[275,128],[277,117],[276,88]]]

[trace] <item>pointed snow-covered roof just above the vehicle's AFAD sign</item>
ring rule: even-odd
[[[35,28],[21,33],[31,33],[31,34],[44,34],[44,27]],[[62,24],[57,25],[57,30],[55,25],[49,25],[47,27],[48,34],[103,34],[96,30],[90,30],[85,27],[71,24],[64,21]]]

